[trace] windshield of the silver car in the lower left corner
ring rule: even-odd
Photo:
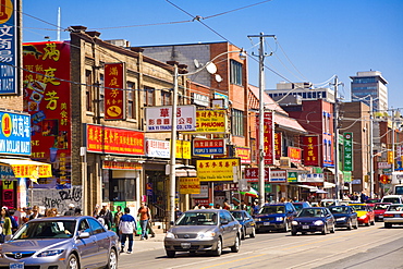
[[[28,222],[15,233],[13,240],[69,239],[73,237],[75,224],[74,220]]]

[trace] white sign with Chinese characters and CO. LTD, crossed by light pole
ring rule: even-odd
[[[172,130],[172,107],[146,108],[146,132],[170,132]],[[196,130],[196,107],[179,106],[176,109],[176,131]]]

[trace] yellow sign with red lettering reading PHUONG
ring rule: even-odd
[[[190,133],[225,133],[225,110],[197,110],[196,131]]]

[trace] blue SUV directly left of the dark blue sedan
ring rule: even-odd
[[[256,232],[291,230],[291,221],[296,216],[296,209],[291,203],[279,203],[260,208],[259,213],[254,216]]]

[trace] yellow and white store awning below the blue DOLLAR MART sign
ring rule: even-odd
[[[11,167],[14,178],[29,178],[34,180],[52,176],[51,166],[45,162],[29,159],[0,159],[1,164]]]

